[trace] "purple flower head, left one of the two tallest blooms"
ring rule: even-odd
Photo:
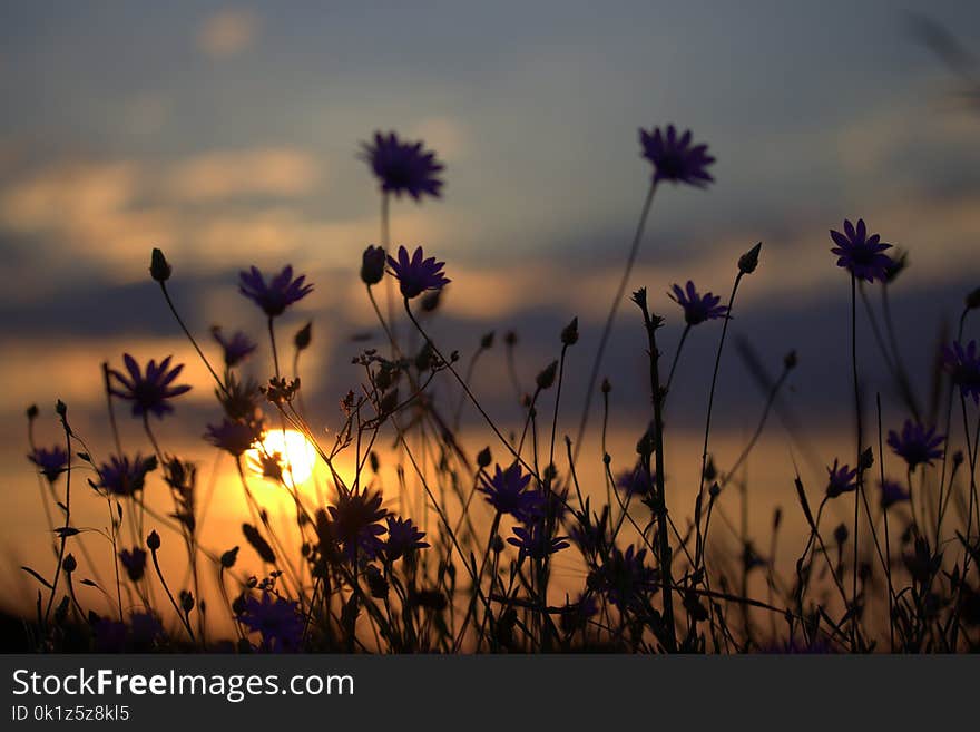
[[[442,180],[438,175],[442,164],[435,153],[422,148],[422,143],[404,143],[394,133],[388,136],[374,133],[374,143],[361,143],[361,159],[365,160],[381,183],[384,193],[401,197],[408,193],[415,201],[430,195],[440,197]]]

